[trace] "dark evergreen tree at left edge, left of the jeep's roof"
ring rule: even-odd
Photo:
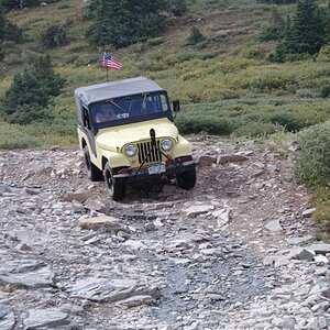
[[[65,80],[54,73],[51,57],[41,55],[16,74],[2,100],[3,119],[10,123],[29,124],[51,119],[47,106],[59,95]]]

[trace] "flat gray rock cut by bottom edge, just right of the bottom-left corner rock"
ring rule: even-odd
[[[32,329],[63,329],[70,323],[69,316],[57,309],[30,309],[24,320],[26,330]]]

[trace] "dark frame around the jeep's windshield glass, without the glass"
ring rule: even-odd
[[[112,103],[116,108],[118,108],[118,105],[117,105],[116,101],[119,101],[121,99],[128,99],[128,98],[134,98],[134,97],[141,96],[142,99],[145,100],[145,98],[147,96],[152,97],[152,96],[162,96],[162,95],[165,97],[165,100],[166,100],[166,103],[167,103],[167,110],[166,111],[154,112],[154,113],[145,113],[144,116],[116,119],[113,121],[106,121],[106,122],[100,122],[100,123],[97,123],[95,121],[94,116],[92,116],[92,107],[96,106],[96,105],[100,105],[100,103],[106,102],[106,103]],[[119,107],[119,108],[121,108],[121,107]],[[123,96],[123,97],[118,97],[118,98],[113,98],[113,99],[110,98],[110,99],[106,99],[106,100],[100,100],[100,101],[90,103],[88,106],[88,109],[89,109],[89,112],[90,112],[92,127],[97,130],[105,129],[105,128],[119,127],[119,125],[124,125],[124,124],[130,124],[130,123],[136,123],[136,122],[144,122],[144,121],[161,119],[161,118],[168,118],[168,120],[170,120],[172,122],[174,121],[170,105],[169,105],[169,101],[168,101],[168,95],[165,90],[153,91],[153,92],[139,92],[139,94],[134,94],[134,95],[130,95],[130,96]]]

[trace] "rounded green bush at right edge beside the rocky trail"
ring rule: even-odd
[[[327,186],[330,183],[330,122],[301,132],[298,142],[296,177],[310,187]]]

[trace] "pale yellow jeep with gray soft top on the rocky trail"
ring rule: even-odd
[[[166,90],[145,77],[75,90],[78,138],[88,176],[105,178],[113,200],[128,183],[176,178],[184,189],[196,182],[191,146],[173,122]],[[173,102],[179,111],[179,101]]]

